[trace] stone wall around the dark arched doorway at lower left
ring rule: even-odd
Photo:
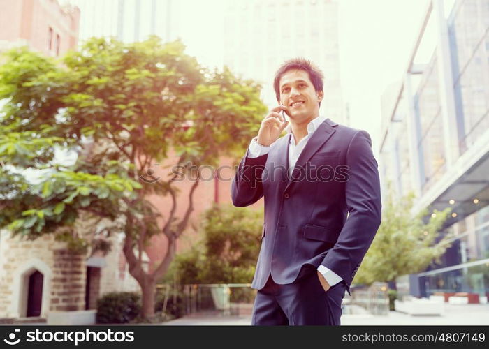
[[[81,227],[80,227],[81,228]],[[124,235],[112,235],[112,249],[103,257],[97,272],[100,277],[92,284],[89,309],[96,308],[96,299],[108,292],[140,292],[140,286],[129,274],[122,244]],[[149,259],[145,258],[145,269]],[[87,256],[68,251],[64,242],[53,235],[34,241],[10,237],[0,231],[0,318],[22,318],[27,311],[29,275],[35,270],[43,274],[41,317],[49,311],[85,310]]]

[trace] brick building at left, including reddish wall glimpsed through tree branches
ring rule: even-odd
[[[77,49],[83,15],[77,7],[61,6],[57,0],[0,0],[0,8],[0,22],[9,24],[0,28],[0,52],[28,45],[32,50],[56,57]],[[170,157],[168,163],[173,160]],[[178,242],[178,251],[199,238],[198,224],[205,209],[214,202],[231,202],[233,164],[231,159],[222,159],[220,163],[222,180],[215,179],[212,171],[202,172],[203,181],[196,189],[189,228]],[[165,175],[163,165],[152,165],[152,169],[156,177]],[[182,217],[187,209],[186,198],[192,184],[191,181],[178,184],[181,192],[177,217]],[[166,216],[170,198],[151,199]],[[122,252],[124,235],[111,239],[112,251],[108,255],[87,258],[69,252],[66,244],[55,241],[52,235],[21,241],[11,237],[10,232],[0,231],[0,322],[45,319],[52,312],[83,313],[95,309],[96,300],[106,292],[140,290],[129,274]],[[157,265],[166,253],[166,246],[166,237],[154,237],[146,250],[145,267],[152,269]]]

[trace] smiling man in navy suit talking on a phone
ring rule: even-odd
[[[319,114],[323,74],[309,61],[286,61],[274,88],[279,105],[261,122],[231,188],[235,206],[265,200],[252,322],[340,325],[344,292],[381,223],[372,142]]]

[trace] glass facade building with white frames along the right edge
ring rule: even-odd
[[[418,62],[430,25],[432,54]],[[453,212],[444,227],[453,233],[451,246],[417,274],[416,295],[468,292],[487,299],[489,0],[430,1],[402,83],[392,92],[383,115],[383,188],[391,181],[400,196],[414,192],[415,211]]]

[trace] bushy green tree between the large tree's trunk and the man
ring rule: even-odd
[[[205,211],[203,240],[177,255],[165,281],[249,283],[260,251],[263,212],[232,205]]]

